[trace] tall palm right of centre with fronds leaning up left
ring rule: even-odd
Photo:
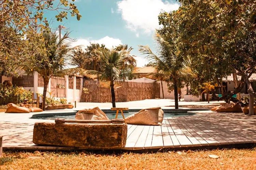
[[[162,35],[156,33],[154,39],[157,49],[156,55],[151,51],[148,45],[139,46],[139,51],[147,55],[146,59],[154,63],[154,67],[157,70],[162,70],[163,73],[169,75],[169,79],[174,85],[175,109],[179,109],[177,82],[179,76],[188,77],[193,75],[189,67],[190,60],[183,57],[180,54],[179,48],[167,42]]]

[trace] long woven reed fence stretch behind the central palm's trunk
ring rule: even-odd
[[[116,102],[139,101],[160,97],[160,85],[157,82],[119,82],[115,87]],[[97,85],[97,81],[85,81],[84,88],[88,94],[82,92],[81,102],[110,103],[111,90]]]

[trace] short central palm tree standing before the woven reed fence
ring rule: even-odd
[[[110,81],[112,107],[116,107],[115,104],[115,90],[114,82],[125,80],[126,77],[132,76],[132,66],[123,67],[124,59],[127,57],[127,51],[111,50],[99,50],[101,71],[88,70],[84,74],[99,75],[101,80]]]

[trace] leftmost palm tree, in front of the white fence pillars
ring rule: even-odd
[[[80,68],[67,68],[68,59],[73,56],[73,50],[66,39],[66,33],[61,39],[53,33],[43,33],[44,42],[41,44],[44,53],[35,54],[29,61],[22,64],[22,69],[26,71],[38,72],[44,80],[43,109],[45,109],[45,99],[49,79],[53,76],[64,77],[74,75],[81,71]]]

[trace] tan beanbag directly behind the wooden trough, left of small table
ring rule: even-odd
[[[109,120],[106,114],[99,107],[80,110],[75,114],[77,120]]]

